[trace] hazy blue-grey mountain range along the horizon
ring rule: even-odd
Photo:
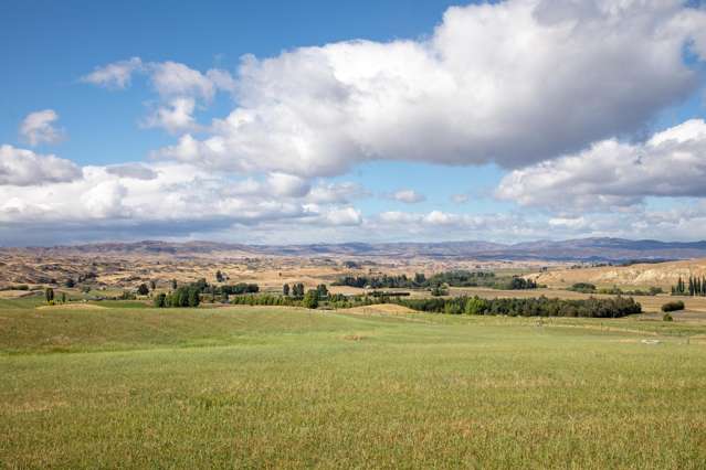
[[[101,243],[51,248],[25,248],[64,254],[125,254],[175,256],[218,255],[236,252],[253,256],[350,256],[350,257],[426,257],[434,259],[472,258],[478,260],[563,260],[563,261],[658,261],[706,257],[706,241],[658,242],[623,238],[580,238],[538,241],[518,244],[489,242],[440,243],[341,243],[309,245],[245,245],[214,242],[171,243],[145,241]]]

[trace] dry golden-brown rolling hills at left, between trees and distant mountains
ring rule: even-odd
[[[355,263],[355,267],[348,267]],[[18,284],[31,286],[51,281],[63,284],[95,274],[92,284],[103,288],[134,288],[140,282],[157,281],[167,287],[172,279],[180,284],[206,278],[215,281],[222,271],[229,282],[255,282],[263,290],[280,290],[283,284],[303,282],[306,287],[330,284],[345,275],[428,275],[451,269],[494,270],[507,274],[528,274],[541,267],[563,267],[566,264],[542,261],[478,261],[474,259],[440,260],[429,257],[351,257],[351,256],[252,256],[238,252],[214,254],[123,254],[33,252],[31,249],[0,249],[0,287]],[[341,293],[354,293],[346,288]]]

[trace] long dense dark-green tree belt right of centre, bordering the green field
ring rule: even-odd
[[[544,296],[529,299],[454,297],[400,299],[397,302],[413,310],[450,314],[620,318],[642,312],[640,303],[630,297],[584,300],[549,299]]]

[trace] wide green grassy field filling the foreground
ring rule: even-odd
[[[0,468],[706,464],[704,327],[21,307]]]

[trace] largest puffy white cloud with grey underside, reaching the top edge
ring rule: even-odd
[[[244,57],[238,107],[160,154],[302,177],[380,159],[523,167],[635,131],[694,92],[683,52],[704,60],[704,30],[706,12],[676,0],[454,7],[425,40]]]

